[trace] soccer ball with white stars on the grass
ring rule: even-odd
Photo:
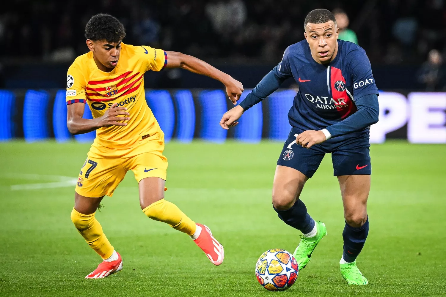
[[[269,291],[288,289],[294,284],[298,274],[296,259],[280,248],[264,252],[256,263],[257,281]]]

